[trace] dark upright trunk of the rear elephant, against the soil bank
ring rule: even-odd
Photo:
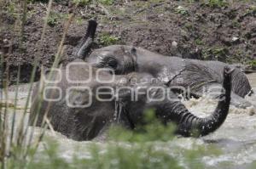
[[[90,46],[96,34],[96,20],[89,20],[85,36],[80,40],[79,45],[74,49],[73,55],[76,59],[84,59],[90,51]]]

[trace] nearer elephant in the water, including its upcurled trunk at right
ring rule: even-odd
[[[80,59],[75,62],[82,63]],[[90,75],[90,69],[86,65],[71,66],[69,73],[66,73],[65,69],[61,70],[62,78],[60,82],[56,84],[47,84],[47,87],[60,87],[62,91],[62,97],[58,101],[47,101],[43,99],[40,102],[41,92],[40,84],[34,88],[32,93],[32,108],[30,115],[30,124],[33,121],[38,127],[44,126],[44,116],[47,116],[51,126],[55,131],[61,132],[68,138],[75,140],[90,140],[100,136],[104,131],[108,129],[110,124],[119,123],[128,128],[137,127],[143,121],[143,113],[145,110],[154,109],[156,116],[163,121],[174,122],[177,124],[177,134],[184,137],[199,137],[205,136],[210,132],[214,132],[220,127],[229,112],[230,106],[230,69],[224,70],[224,89],[225,93],[222,93],[218,102],[216,110],[212,112],[212,115],[206,118],[199,118],[185,108],[185,106],[177,99],[176,94],[171,90],[167,90],[167,94],[172,99],[163,99],[161,101],[150,101],[146,97],[146,91],[151,99],[161,98],[164,94],[159,88],[150,87],[165,87],[161,82],[151,82],[153,76],[150,74],[132,73],[125,76],[115,76],[113,82],[101,83],[96,81],[96,69],[92,69],[92,79],[90,82],[84,84],[68,82],[67,76],[73,81],[81,81],[88,79]],[[49,78],[46,77],[47,79]],[[112,79],[112,75],[107,71],[101,71],[99,74],[101,80]],[[124,81],[124,78],[127,81]],[[54,72],[53,79],[58,79],[56,71]],[[136,79],[137,83],[133,83],[131,79]],[[87,90],[71,90],[67,94],[68,87],[90,87],[91,93]],[[110,99],[111,101],[102,102],[99,97],[96,97],[96,89],[98,87],[113,87],[113,90],[117,92],[118,87],[131,87],[130,89],[120,90],[118,94],[108,93],[100,96],[100,98]],[[109,92],[107,89],[104,92]],[[102,92],[103,92],[102,91]],[[59,93],[55,89],[44,90],[45,96],[48,99],[56,99],[59,97]],[[138,94],[137,100],[131,100],[132,93]],[[69,98],[67,99],[67,96]],[[72,105],[87,104],[89,97],[92,97],[92,104],[86,108],[72,108],[67,105],[69,100]],[[66,100],[67,99],[67,100]],[[117,113],[118,112],[118,113]],[[193,131],[193,132],[192,132]],[[194,134],[193,134],[194,133]],[[198,133],[198,134],[195,134]],[[171,134],[171,133],[170,133]]]

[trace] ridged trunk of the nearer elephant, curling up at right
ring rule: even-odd
[[[177,134],[184,137],[205,136],[223,124],[230,108],[231,71],[228,67],[224,68],[223,87],[225,93],[219,97],[218,106],[212,115],[200,118],[191,114],[183,105],[176,105],[176,108],[172,108],[176,116]]]

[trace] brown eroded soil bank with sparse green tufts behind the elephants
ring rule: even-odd
[[[72,54],[73,47],[84,35],[87,21],[96,17],[99,26],[94,48],[122,43],[183,58],[256,65],[253,64],[256,58],[254,0],[216,4],[169,0],[103,2],[110,3],[84,3],[74,10],[76,16],[67,33],[64,59]],[[21,43],[21,4],[5,3],[1,8],[0,53],[9,65],[11,83],[15,82],[17,65],[21,65],[21,82],[28,82],[35,56],[39,57],[40,65],[52,64],[72,3],[53,4],[42,46],[38,41],[47,3],[37,1],[27,5]],[[36,80],[38,77],[39,71]]]

